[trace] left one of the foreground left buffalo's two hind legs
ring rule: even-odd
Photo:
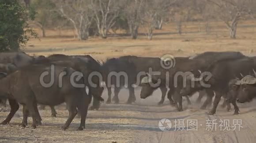
[[[76,99],[74,99],[72,96],[69,96],[66,98],[66,104],[68,107],[68,119],[62,127],[62,129],[64,130],[68,129],[68,126],[70,125],[70,123],[75,118],[75,115],[77,114],[77,110],[76,110],[77,105],[75,105],[75,100]],[[81,117],[83,115],[82,112],[84,111],[81,111]]]

